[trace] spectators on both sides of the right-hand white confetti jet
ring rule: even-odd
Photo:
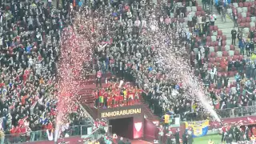
[[[142,97],[149,102],[154,114],[160,117],[168,111],[172,114],[181,114],[182,118],[185,118],[186,114],[203,110],[198,102],[192,102],[190,98],[179,96],[171,98],[177,94],[182,95],[182,82],[167,82],[162,60],[158,58],[157,50],[150,46],[150,38],[146,37],[147,30],[154,23],[152,19],[156,19],[157,27],[173,31],[175,46],[182,47],[183,42],[186,43],[186,52],[190,54],[194,73],[202,78],[216,109],[252,106],[254,62],[250,58],[241,57],[233,60],[223,57],[219,67],[208,65],[210,46],[206,42],[206,36],[216,32],[210,29],[214,26],[216,16],[210,12],[209,15],[199,18],[192,17],[190,13],[185,15],[187,5],[189,4],[179,7],[175,3],[162,3],[162,10],[154,11],[150,9],[152,5],[142,2],[139,4],[134,2],[130,6],[120,4],[114,9],[112,18],[109,18],[114,18],[113,25],[106,28],[108,33],[102,34],[102,41],[105,43],[100,43],[96,52],[99,55],[96,66],[98,73],[110,71],[121,79],[135,81],[138,87],[146,92]],[[209,4],[206,2],[206,7],[207,5]],[[195,6],[194,2],[192,6]],[[187,25],[190,27],[183,26],[181,19],[184,16],[188,18]],[[243,39],[235,29],[232,34],[234,31],[238,34],[239,41]],[[218,49],[222,49],[222,37],[216,42]],[[250,46],[250,43],[246,42],[244,45]],[[197,46],[198,53],[194,53],[194,48]],[[234,70],[238,71],[238,74],[234,77],[235,82],[232,82],[228,74]]]

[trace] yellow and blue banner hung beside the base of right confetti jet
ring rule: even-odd
[[[202,137],[207,134],[209,120],[196,121],[196,122],[185,122],[186,130],[193,129],[193,137]]]

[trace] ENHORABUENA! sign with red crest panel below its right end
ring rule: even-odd
[[[134,118],[134,138],[142,138],[144,136],[144,111],[142,106],[122,106],[98,110],[98,118],[118,119],[130,117]]]

